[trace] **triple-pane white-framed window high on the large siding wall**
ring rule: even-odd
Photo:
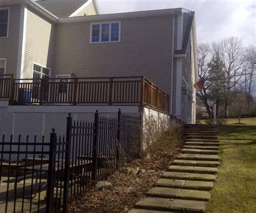
[[[91,43],[120,42],[121,23],[91,23]]]

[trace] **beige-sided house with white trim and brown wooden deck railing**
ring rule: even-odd
[[[184,8],[102,15],[97,0],[2,0],[0,105],[147,108],[194,123],[196,40],[194,12]]]

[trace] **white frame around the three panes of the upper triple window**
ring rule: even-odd
[[[111,41],[111,24],[118,23],[119,24],[119,32],[118,32],[118,40]],[[92,42],[92,25],[99,24],[99,42]],[[102,42],[102,25],[103,24],[109,24],[109,41]],[[111,22],[92,22],[90,25],[90,43],[91,44],[98,44],[98,43],[115,43],[115,42],[121,42],[121,21],[120,20],[114,20]]]

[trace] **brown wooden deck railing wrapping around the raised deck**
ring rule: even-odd
[[[147,105],[169,112],[169,95],[145,77],[10,79],[8,85],[10,104]]]

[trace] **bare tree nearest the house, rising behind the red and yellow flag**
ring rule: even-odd
[[[197,91],[197,97],[203,102],[205,105],[207,114],[209,117],[212,117],[212,108],[209,105],[210,97],[208,94],[208,88],[211,86],[212,82],[210,81],[210,64],[213,59],[211,46],[207,43],[198,45],[198,71],[199,78],[203,79],[204,86],[202,90]]]

